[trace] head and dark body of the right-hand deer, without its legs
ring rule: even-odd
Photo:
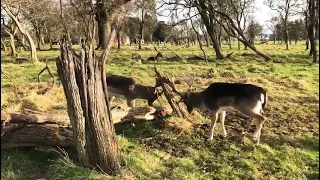
[[[185,93],[182,97],[188,111],[206,107],[209,110],[243,110],[243,107],[254,107],[258,101],[264,108],[266,91],[256,85],[241,83],[213,83],[204,91]]]

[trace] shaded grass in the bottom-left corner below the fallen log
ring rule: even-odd
[[[74,154],[71,154],[74,153]],[[76,152],[68,152],[76,156]],[[42,148],[1,150],[1,179],[107,179],[68,157]]]

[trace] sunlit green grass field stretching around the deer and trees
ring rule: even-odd
[[[58,47],[57,47],[58,48]],[[236,45],[234,45],[236,48]],[[250,118],[237,112],[226,117],[227,138],[222,138],[220,123],[217,124],[212,142],[205,141],[209,132],[208,117],[193,114],[194,120],[202,122],[193,128],[175,116],[163,121],[144,122],[136,126],[117,126],[122,156],[122,172],[110,177],[95,170],[82,168],[67,155],[52,150],[6,150],[1,152],[1,178],[3,179],[319,179],[319,65],[307,58],[302,42],[290,46],[271,43],[257,45],[270,55],[273,62],[264,62],[251,50],[234,50],[235,60],[216,60],[213,50],[206,48],[209,64],[188,61],[192,55],[201,56],[198,46],[167,47],[158,50],[165,56],[172,51],[183,57],[182,61],[162,61],[138,64],[130,60],[138,52],[146,59],[156,55],[152,46],[137,51],[135,46],[112,50],[107,72],[133,76],[141,83],[153,85],[153,66],[164,74],[195,75],[197,90],[212,82],[253,83],[267,90],[261,144],[255,145],[250,136],[254,125]],[[224,54],[230,53],[227,46]],[[243,49],[243,48],[242,48]],[[100,51],[97,52],[99,56]],[[57,77],[55,58],[59,51],[39,51],[41,61],[49,66]],[[28,52],[22,52],[27,57]],[[22,103],[16,100],[13,86],[1,75],[1,107],[8,112],[22,108],[49,112],[66,110],[62,87],[48,95],[37,95],[37,74],[44,67],[40,64],[14,64],[13,59],[1,53],[1,67],[22,91]],[[202,78],[209,69],[213,78]],[[48,86],[51,77],[41,76],[41,86]],[[185,86],[179,86],[185,90]],[[125,102],[117,99],[117,102]],[[155,104],[164,105],[165,98]],[[146,105],[139,100],[137,105]],[[183,133],[181,133],[183,132]]]

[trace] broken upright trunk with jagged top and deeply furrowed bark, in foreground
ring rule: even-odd
[[[84,45],[76,59],[65,39],[60,45],[57,69],[67,99],[76,149],[85,166],[99,166],[108,174],[120,170],[120,154],[113,126],[105,82],[104,66],[115,32],[109,36],[102,57],[94,57],[94,47]]]

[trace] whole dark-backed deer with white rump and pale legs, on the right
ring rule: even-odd
[[[267,93],[263,88],[253,84],[242,83],[212,83],[205,90],[199,92],[180,93],[181,100],[187,107],[189,113],[195,108],[210,111],[211,127],[208,140],[213,140],[214,128],[220,114],[223,136],[227,137],[224,126],[226,111],[237,110],[242,114],[253,118],[256,130],[253,139],[260,143],[261,129],[265,117],[261,115],[267,104]]]

